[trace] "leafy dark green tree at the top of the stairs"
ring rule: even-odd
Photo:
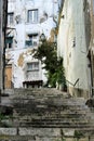
[[[57,57],[56,44],[48,40],[43,40],[42,43],[33,53],[33,57],[40,60],[44,64],[43,68],[48,72],[48,85],[56,87],[63,85],[66,87],[65,69],[63,66],[63,59]]]

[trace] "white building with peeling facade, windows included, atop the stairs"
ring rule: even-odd
[[[41,62],[32,59],[41,34],[54,40],[58,0],[9,0],[5,88],[45,82]]]

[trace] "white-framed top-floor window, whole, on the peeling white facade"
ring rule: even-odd
[[[38,10],[28,10],[27,22],[28,23],[37,23],[38,22]]]

